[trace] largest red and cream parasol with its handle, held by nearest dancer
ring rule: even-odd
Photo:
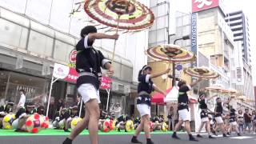
[[[86,0],[86,14],[99,23],[122,30],[143,30],[154,22],[154,14],[135,0]],[[114,41],[115,52],[116,41]],[[112,62],[114,60],[114,52]]]

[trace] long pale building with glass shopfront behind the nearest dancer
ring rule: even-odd
[[[28,101],[38,98],[45,104],[49,94],[50,78],[54,63],[69,64],[82,27],[94,25],[70,17],[78,1],[58,0],[1,1],[0,2],[0,99],[14,98],[18,102],[18,90],[26,90]],[[80,1],[79,1],[80,2]],[[148,2],[141,1],[148,5]],[[97,26],[97,28],[101,28]],[[99,30],[104,32],[104,30]],[[114,41],[98,40],[95,48],[110,58]],[[117,42],[114,58],[114,78],[110,103],[120,102],[123,112],[134,113],[137,94],[138,70],[146,64],[144,47],[148,46],[148,30],[135,34],[122,34]],[[53,86],[52,101],[59,98],[72,105],[77,97],[74,83],[58,81]],[[106,108],[106,90],[101,90],[102,109]]]

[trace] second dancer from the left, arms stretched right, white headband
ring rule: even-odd
[[[141,122],[138,125],[136,132],[131,139],[133,143],[142,143],[139,142],[137,137],[144,130],[146,135],[146,143],[153,144],[150,138],[150,94],[153,90],[158,91],[161,94],[166,95],[166,93],[160,90],[154,83],[151,81],[152,78],[157,78],[162,74],[167,74],[170,69],[163,71],[159,74],[151,74],[152,68],[150,66],[143,66],[142,70],[138,73],[138,98],[137,98],[137,109],[141,115]]]

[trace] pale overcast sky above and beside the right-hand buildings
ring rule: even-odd
[[[253,0],[224,0],[226,5],[226,12],[232,12],[237,10],[242,10],[249,22],[250,29],[250,49],[251,51],[251,66],[252,66],[252,76],[254,86],[256,86],[256,57],[254,54],[256,52],[256,17],[255,17],[255,6],[252,4]],[[191,12],[191,0],[175,0],[176,10],[181,12]]]

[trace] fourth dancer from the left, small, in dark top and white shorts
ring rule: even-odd
[[[210,121],[209,121],[209,115],[208,115],[208,112],[210,111],[210,113],[213,113],[207,106],[206,102],[212,98],[214,98],[215,96],[213,97],[210,97],[208,99],[206,99],[206,93],[202,92],[200,95],[199,95],[199,99],[198,99],[198,102],[199,102],[199,108],[201,109],[201,113],[200,113],[200,117],[201,117],[201,125],[199,127],[199,130],[198,130],[198,135],[197,137],[198,138],[202,138],[202,135],[200,135],[201,133],[201,130],[202,130],[202,127],[204,125],[206,125],[206,131],[208,133],[208,138],[213,138],[211,135],[210,135]]]

